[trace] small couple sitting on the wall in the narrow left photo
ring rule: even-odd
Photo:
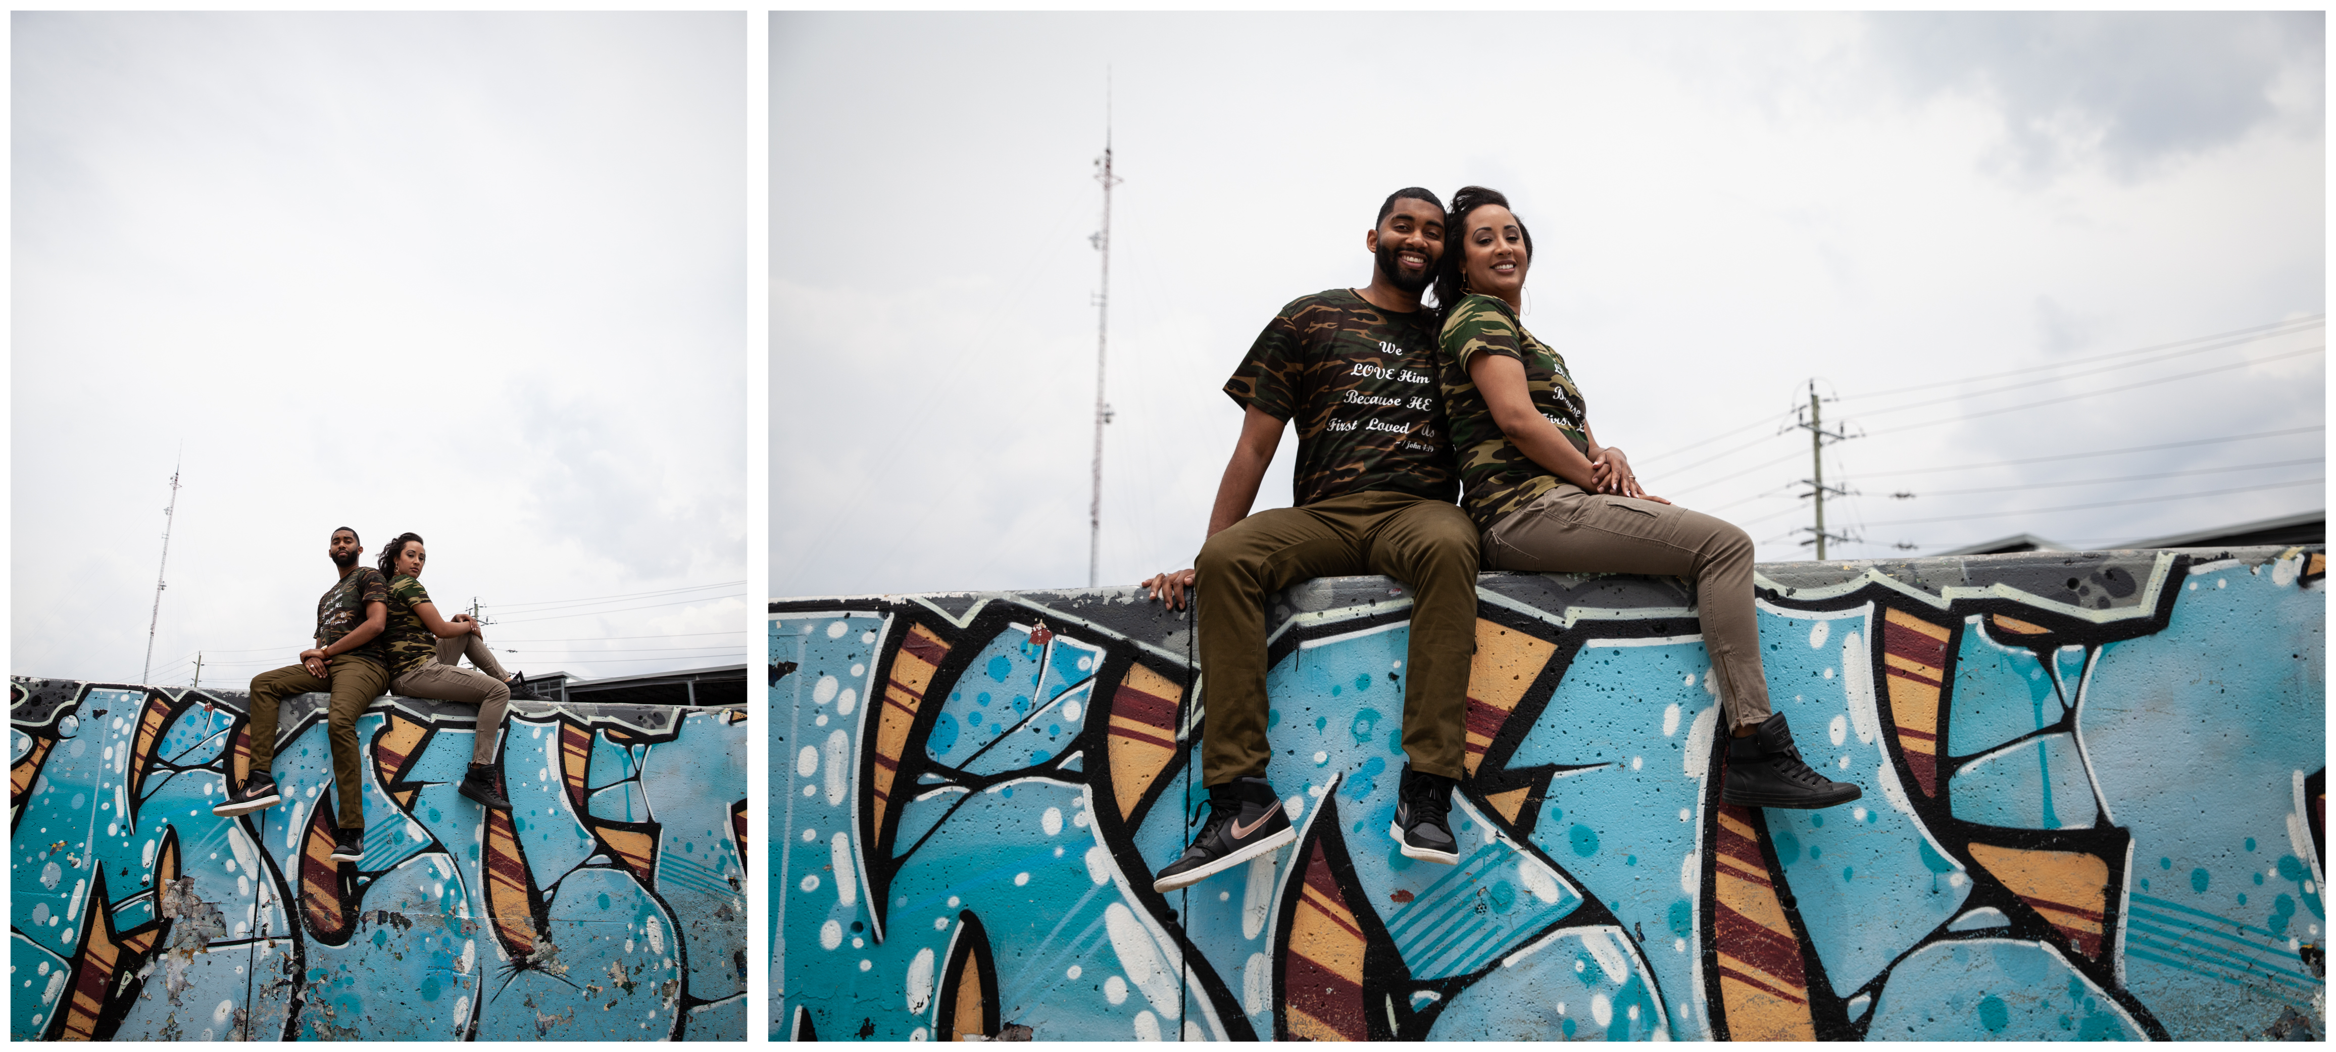
[[[470,615],[439,617],[423,589],[420,533],[399,533],[381,556],[381,568],[357,566],[364,547],[357,531],[332,531],[325,549],[341,577],[315,603],[315,648],[299,652],[299,664],[252,676],[252,764],[243,785],[227,788],[227,802],[210,814],[238,816],[283,800],[276,790],[276,718],[278,704],[292,694],[332,692],[327,729],[332,739],[332,783],[339,795],[339,835],[332,858],[364,858],[362,771],[357,762],[357,715],[383,690],[404,697],[432,697],[479,706],[477,741],[463,795],[484,807],[509,811],[512,802],[495,790],[502,764],[495,746],[502,736],[505,706],[519,697],[540,701],[526,676],[505,676],[486,648],[481,627]],[[477,669],[456,662],[470,655]]]

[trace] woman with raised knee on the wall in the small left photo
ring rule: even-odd
[[[423,589],[420,533],[399,533],[381,552],[381,575],[390,580],[390,622],[381,631],[390,650],[390,694],[434,697],[479,706],[479,729],[472,734],[470,771],[460,793],[484,807],[509,811],[512,802],[495,793],[495,746],[502,739],[502,713],[512,701],[502,664],[486,648],[479,622],[470,615],[439,617],[437,603]],[[477,669],[456,662],[470,655]],[[521,680],[521,690],[526,683]]]

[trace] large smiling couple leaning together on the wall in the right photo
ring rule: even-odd
[[[1752,612],[1752,540],[1640,489],[1591,435],[1565,360],[1518,323],[1532,234],[1509,199],[1397,189],[1364,234],[1371,283],[1289,302],[1224,383],[1245,411],[1191,570],[1142,582],[1184,605],[1196,587],[1208,671],[1201,771],[1210,821],[1156,891],[1196,884],[1296,839],[1264,778],[1264,596],[1308,577],[1378,573],[1411,587],[1404,764],[1388,835],[1455,865],[1446,823],[1462,778],[1476,570],[1680,575],[1731,729],[1719,800],[1834,807],[1857,800],[1801,762],[1768,711]],[[1420,295],[1434,285],[1437,306]],[[1282,425],[1294,423],[1296,507],[1250,514]],[[1453,498],[1465,489],[1462,507]],[[1481,554],[1479,554],[1481,552]]]

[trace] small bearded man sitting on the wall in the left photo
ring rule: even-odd
[[[390,662],[381,650],[381,629],[390,615],[390,582],[381,570],[357,563],[364,547],[357,531],[332,531],[325,549],[339,580],[315,601],[315,648],[299,652],[299,664],[252,676],[252,769],[243,788],[227,788],[227,802],[210,814],[236,816],[259,811],[283,800],[276,793],[276,718],[278,704],[294,694],[332,690],[327,736],[332,739],[332,783],[341,800],[339,835],[332,858],[364,858],[364,767],[357,762],[357,715],[390,685]]]

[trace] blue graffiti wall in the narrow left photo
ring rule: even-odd
[[[16,1040],[745,1038],[745,711],[512,701],[357,718],[364,858],[334,863],[325,694],[285,701],[285,802],[210,814],[248,697],[16,678]]]

